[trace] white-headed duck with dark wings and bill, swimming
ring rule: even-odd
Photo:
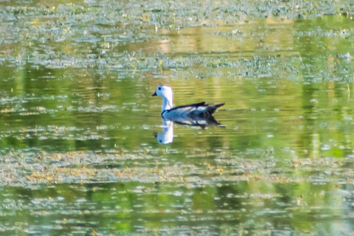
[[[172,121],[177,119],[213,118],[212,114],[215,110],[225,105],[225,103],[209,105],[205,104],[205,102],[200,102],[173,107],[173,90],[169,85],[159,85],[152,96],[162,97],[161,116]]]

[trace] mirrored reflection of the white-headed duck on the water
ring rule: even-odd
[[[158,133],[154,133],[154,136],[159,144],[169,144],[173,142],[173,123],[177,123],[179,125],[189,125],[189,126],[199,126],[201,128],[205,128],[206,126],[217,125],[220,126],[219,123],[213,116],[209,116],[207,118],[203,117],[195,117],[195,118],[182,118],[178,117],[176,119],[164,119],[162,118],[162,131]]]

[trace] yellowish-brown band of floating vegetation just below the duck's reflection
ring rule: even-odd
[[[169,161],[160,160],[157,156],[122,154],[120,151],[110,151],[107,154],[87,151],[9,152],[2,156],[1,172],[4,178],[0,184],[31,188],[34,184],[173,182],[176,186],[197,188],[230,181],[344,184],[354,178],[352,158],[276,160],[273,157],[260,161],[229,156],[227,152],[208,153],[208,156],[215,158],[210,163],[170,165]],[[205,160],[206,156],[199,153],[198,158]]]

